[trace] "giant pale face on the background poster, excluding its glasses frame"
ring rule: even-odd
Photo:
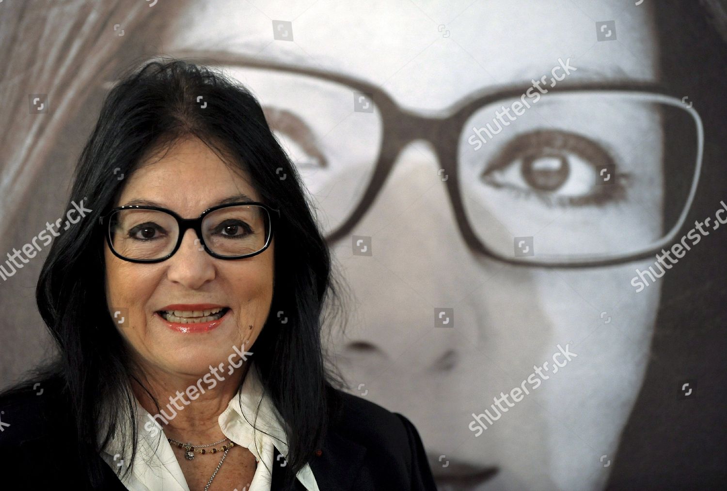
[[[577,68],[566,82],[657,79],[648,2],[286,1],[252,7],[229,0],[214,7],[193,2],[167,33],[167,52],[221,50],[356,76],[419,114],[436,114],[484,89],[527,86],[532,79],[550,77],[559,59],[570,59]],[[276,25],[276,20],[292,20],[292,25]],[[596,23],[603,20],[614,20],[615,28],[598,29]],[[606,35],[604,41],[597,40]],[[280,101],[288,93],[282,83],[239,78],[263,105],[268,105],[267,97]],[[324,153],[333,149],[326,163],[340,171],[335,179],[328,187],[307,184],[326,203],[325,214],[335,216],[337,210],[350,209],[351,198],[344,190],[351,188],[346,186],[365,183],[361,176],[370,175],[370,161],[350,156],[375,150],[380,135],[367,131],[362,118],[375,114],[366,113],[365,100],[358,101],[359,112],[354,110],[356,94],[345,94],[340,106],[326,107],[319,101],[328,89],[321,86],[315,92],[312,87],[305,97],[290,92],[284,102],[301,107],[293,127],[305,129],[300,121],[305,122]],[[613,142],[610,150],[635,162],[627,169],[635,179],[651,176],[651,187],[644,188],[652,194],[640,195],[632,188],[618,204],[580,208],[582,221],[572,220],[564,232],[606,230],[616,212],[626,207],[631,211],[627,222],[616,228],[619,232],[640,237],[659,227],[659,141],[645,137],[658,134],[658,126],[648,118],[634,118],[634,126],[596,125],[601,116],[606,118],[601,111],[617,107],[574,106],[563,118],[540,123],[548,130],[567,125],[571,132],[589,134],[591,141]],[[268,107],[271,123],[286,114],[279,109]],[[335,123],[316,126],[321,116]],[[493,145],[504,145],[516,133],[503,129],[477,155],[487,155]],[[279,136],[294,158],[305,157],[304,174],[311,162],[320,163],[311,139],[295,141],[292,131]],[[414,421],[435,476],[496,467],[493,479],[469,489],[602,486],[648,360],[659,284],[637,295],[630,279],[635,267],[645,269],[651,261],[536,269],[511,267],[475,253],[457,227],[446,182],[438,173],[442,164],[427,142],[411,142],[396,156],[377,198],[350,232],[371,238],[372,256],[352,251],[350,235],[331,244],[356,296],[348,338],[334,346],[340,367],[358,389],[356,394]],[[581,164],[593,173],[587,162]],[[505,220],[514,216],[518,202],[513,195],[487,189],[490,211]],[[555,220],[563,208],[554,209]],[[190,216],[198,211],[188,209]],[[510,232],[518,235],[514,228]],[[176,259],[181,267],[181,258]],[[435,327],[433,312],[439,308],[453,309],[454,328]],[[565,349],[566,344],[577,357],[557,374],[551,362],[543,371],[551,376],[539,388],[475,437],[469,427],[473,413],[483,413],[502,392],[520,387],[536,365],[550,361],[558,345]]]

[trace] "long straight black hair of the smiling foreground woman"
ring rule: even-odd
[[[335,389],[344,383],[326,364],[321,325],[324,302],[340,301],[345,285],[332,275],[329,248],[294,164],[244,86],[204,66],[157,58],[132,67],[105,97],[69,198],[69,207],[83,200],[92,211],[54,240],[36,288],[40,314],[59,352],[36,374],[47,384],[55,381],[65,394],[61,400],[66,407],[60,410],[73,422],[73,450],[92,487],[102,482],[107,466],[99,458],[100,449],[117,429],[131,429],[121,444],[130,440],[136,453],[137,429],[121,421],[124,412],[119,409],[134,414],[132,380],[148,391],[108,312],[104,233],[98,219],[115,206],[126,180],[122,174],[131,175],[145,155],[186,137],[200,139],[225,165],[244,169],[262,202],[281,211],[275,230],[273,300],[251,361],[284,419],[286,479],[292,481],[321,448],[329,418],[340,407]],[[286,179],[279,177],[283,174]],[[336,306],[340,302],[332,304],[334,310]],[[276,317],[279,311],[288,317],[284,326]],[[124,475],[129,471],[131,466]]]

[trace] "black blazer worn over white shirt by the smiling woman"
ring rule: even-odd
[[[73,451],[73,424],[54,410],[59,390],[23,391],[0,398],[0,489],[55,489],[71,484],[90,489],[79,455]],[[40,391],[39,387],[38,391]],[[340,392],[340,391],[339,391]],[[414,425],[398,413],[345,392],[342,409],[331,422],[321,455],[309,461],[321,491],[425,490],[435,483],[422,440]],[[7,426],[9,425],[9,426]],[[278,462],[275,450],[273,463]],[[100,489],[126,488],[103,461]],[[273,465],[272,491],[282,491],[284,469]],[[293,489],[304,491],[296,479]]]

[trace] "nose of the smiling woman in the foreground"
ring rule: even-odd
[[[214,279],[212,256],[204,250],[194,230],[188,229],[182,243],[174,256],[167,259],[166,277],[174,283],[180,283],[190,289],[200,288],[207,281]]]

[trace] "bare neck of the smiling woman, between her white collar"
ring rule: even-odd
[[[235,370],[232,376],[215,379],[217,384],[212,389],[209,389],[211,384],[199,384],[200,377],[144,370],[142,380],[158,401],[158,409],[136,378],[132,378],[132,391],[150,415],[159,415],[155,419],[164,429],[166,437],[183,443],[206,445],[225,437],[217,418],[227,409],[248,369],[249,362],[246,361],[241,370]],[[204,393],[200,391],[200,386]]]

